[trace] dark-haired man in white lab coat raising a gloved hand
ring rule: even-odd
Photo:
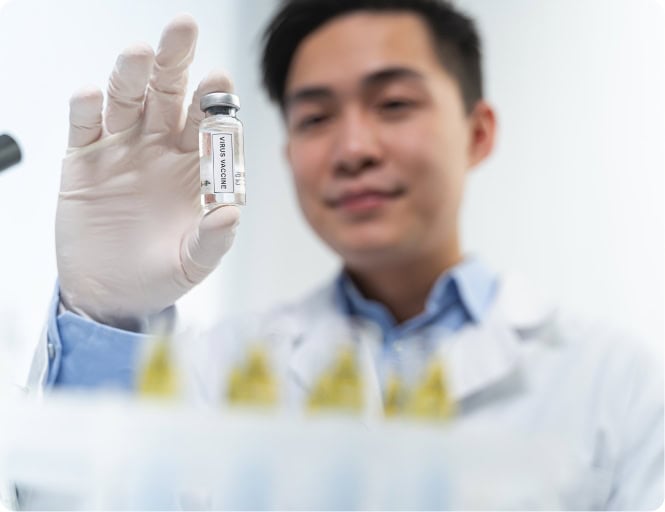
[[[70,150],[56,221],[59,293],[33,387],[134,386],[151,318],[201,282],[229,249],[238,210],[198,204],[201,95],[182,122],[196,26],[172,22],[153,55],[128,49],[107,105],[71,102]],[[320,336],[379,331],[370,362],[386,396],[409,343],[441,358],[457,417],[515,435],[557,431],[584,471],[570,507],[654,508],[662,501],[659,375],[621,335],[573,323],[519,283],[464,258],[458,213],[466,174],[492,151],[472,22],[431,0],[291,0],[268,27],[264,83],[288,134],[301,208],[343,261],[338,279],[268,313],[288,353],[289,393],[312,393]],[[251,150],[251,148],[249,149]],[[219,399],[233,348],[220,326],[193,365]]]

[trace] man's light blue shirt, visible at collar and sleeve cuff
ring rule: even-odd
[[[496,278],[475,258],[468,258],[445,272],[434,284],[425,310],[397,324],[388,309],[362,296],[349,276],[337,278],[336,303],[340,313],[375,322],[385,346],[398,339],[436,326],[450,332],[469,322],[483,320],[496,291]],[[71,312],[58,314],[59,295],[54,294],[48,322],[51,387],[131,390],[139,351],[148,335],[123,331]]]

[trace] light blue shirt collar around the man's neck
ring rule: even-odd
[[[494,298],[496,279],[475,257],[469,257],[444,272],[435,282],[425,310],[416,317],[397,325],[395,318],[381,303],[368,300],[360,293],[349,275],[342,271],[336,281],[336,300],[350,316],[373,320],[384,330],[386,338],[443,320],[457,318],[454,329],[467,322],[482,322]],[[450,319],[449,323],[450,323]],[[399,331],[390,335],[388,331]]]

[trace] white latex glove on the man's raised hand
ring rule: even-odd
[[[103,94],[84,89],[70,101],[69,149],[56,214],[63,305],[123,326],[172,305],[201,282],[230,248],[239,210],[203,215],[198,127],[202,95],[229,91],[211,73],[187,115],[183,98],[198,29],[175,18],[154,54],[126,49]]]

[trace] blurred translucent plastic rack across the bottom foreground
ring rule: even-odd
[[[414,422],[368,428],[342,415],[82,393],[3,402],[0,415],[0,475],[42,493],[43,508],[60,508],[53,492],[72,510],[590,506],[576,501],[580,461],[560,433]]]

